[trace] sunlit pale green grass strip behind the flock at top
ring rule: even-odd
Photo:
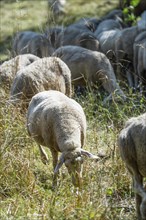
[[[100,17],[116,7],[117,0],[69,0],[66,15],[54,18],[47,0],[0,1],[0,60],[11,57],[14,35],[22,30],[43,32],[55,25],[68,25],[83,17]]]

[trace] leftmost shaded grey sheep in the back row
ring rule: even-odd
[[[54,48],[45,34],[33,31],[18,32],[12,43],[13,55],[31,53],[40,58],[51,56]]]

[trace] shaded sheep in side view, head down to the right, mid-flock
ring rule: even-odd
[[[60,57],[71,70],[72,84],[93,88],[102,83],[103,88],[110,93],[110,100],[116,92],[124,100],[126,96],[119,87],[109,59],[98,51],[91,51],[79,46],[64,46],[58,48],[52,56]]]

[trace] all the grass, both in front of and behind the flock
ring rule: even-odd
[[[1,4],[0,57],[10,57],[13,34],[20,30],[44,30],[46,1],[4,1]],[[29,7],[28,7],[29,4]],[[81,17],[104,15],[117,1],[68,0],[65,18],[52,19],[67,25]],[[9,13],[7,13],[9,11]],[[131,178],[119,156],[117,136],[125,121],[145,112],[146,100],[125,88],[126,103],[103,105],[104,94],[87,93],[74,98],[87,117],[85,149],[104,152],[98,163],[85,159],[83,186],[75,189],[63,166],[59,185],[52,191],[52,158],[43,165],[37,144],[28,136],[26,116],[11,106],[9,92],[0,90],[0,219],[14,220],[136,220]]]

